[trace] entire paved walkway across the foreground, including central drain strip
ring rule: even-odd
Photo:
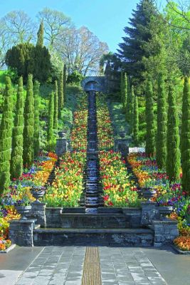
[[[99,285],[100,276],[102,285],[189,285],[189,266],[169,247],[17,247],[0,255],[0,285]]]

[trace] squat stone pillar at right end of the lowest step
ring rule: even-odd
[[[163,244],[173,242],[179,235],[176,220],[155,220],[152,222],[152,225],[154,229],[154,247],[161,247]]]

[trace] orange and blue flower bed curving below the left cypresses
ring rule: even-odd
[[[35,199],[31,195],[31,187],[43,186],[53,169],[57,157],[53,153],[43,153],[30,170],[23,172],[23,175],[14,180],[9,190],[1,195],[0,206],[0,250],[5,250],[11,245],[8,239],[9,222],[11,219],[19,219],[14,204],[28,205]]]

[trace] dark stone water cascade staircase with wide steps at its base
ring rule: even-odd
[[[54,244],[152,246],[153,244],[152,229],[140,227],[142,214],[140,209],[103,207],[95,96],[94,91],[88,93],[87,162],[80,207],[46,208],[46,228],[33,230],[33,243],[36,246]]]

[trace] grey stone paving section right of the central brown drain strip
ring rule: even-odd
[[[167,285],[142,249],[100,247],[99,251],[102,285]]]

